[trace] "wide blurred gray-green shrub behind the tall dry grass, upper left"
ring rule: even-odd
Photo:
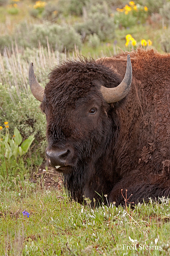
[[[75,31],[73,27],[68,25],[57,25],[50,22],[43,22],[43,24],[28,24],[26,22],[19,24],[11,37],[8,35],[0,37],[0,49],[12,44],[21,47],[38,47],[39,43],[47,47],[49,43],[53,51],[60,52],[72,51],[75,45],[80,49],[82,46],[81,36]]]

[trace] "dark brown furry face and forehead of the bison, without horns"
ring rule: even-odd
[[[41,104],[47,118],[46,155],[53,167],[60,166],[58,171],[70,173],[83,162],[97,161],[113,137],[113,108],[100,86],[115,87],[121,79],[93,60],[63,63],[49,78]]]

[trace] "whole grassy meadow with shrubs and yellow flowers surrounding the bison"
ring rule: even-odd
[[[28,83],[78,54],[170,52],[169,0],[0,0],[0,256],[169,255],[170,200],[91,209],[45,166],[46,117]],[[107,196],[107,195],[106,195]]]

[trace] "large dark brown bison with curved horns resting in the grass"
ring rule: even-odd
[[[170,54],[67,60],[45,89],[31,63],[29,83],[47,118],[48,162],[70,198],[94,205],[107,194],[124,205],[125,194],[135,204],[170,195]]]

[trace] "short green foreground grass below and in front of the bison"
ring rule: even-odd
[[[38,184],[19,191],[1,187],[0,255],[169,255],[170,200],[161,201],[91,209]]]

